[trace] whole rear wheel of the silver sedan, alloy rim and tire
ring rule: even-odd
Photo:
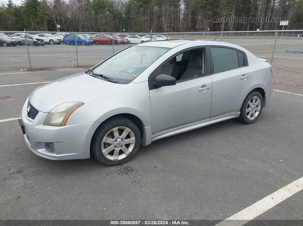
[[[239,120],[242,123],[251,124],[258,120],[263,109],[263,97],[257,92],[253,91],[245,98]]]

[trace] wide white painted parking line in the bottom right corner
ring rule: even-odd
[[[248,206],[215,226],[243,225],[303,189],[303,177]],[[235,220],[238,220],[235,222]]]

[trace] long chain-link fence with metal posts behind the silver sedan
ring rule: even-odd
[[[93,66],[113,53],[137,43],[165,39],[197,39],[242,46],[272,64],[275,83],[303,86],[303,30],[152,33],[152,36],[150,33],[124,35],[26,32],[30,36],[28,38],[24,37],[25,32],[2,31],[0,36],[1,33],[15,38],[18,45],[0,48],[0,71]],[[20,33],[23,33],[23,36],[19,36]],[[134,35],[138,35],[140,39]],[[126,36],[128,37],[125,39]]]

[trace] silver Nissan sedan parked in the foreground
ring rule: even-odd
[[[140,144],[232,118],[254,123],[273,88],[265,61],[223,42],[138,44],[35,89],[19,123],[44,158],[122,164]]]

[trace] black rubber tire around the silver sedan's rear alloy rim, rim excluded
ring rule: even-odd
[[[260,111],[258,113],[258,115],[254,118],[254,119],[248,119],[247,113],[246,113],[246,109],[248,107],[248,102],[251,100],[251,98],[253,97],[259,97],[260,101],[261,101],[261,107],[260,107]],[[261,113],[263,110],[263,97],[262,95],[258,92],[258,91],[251,91],[247,97],[245,98],[241,110],[240,110],[240,116],[238,117],[238,120],[241,123],[245,123],[245,124],[251,124],[251,123],[255,123],[258,118],[260,117]]]

